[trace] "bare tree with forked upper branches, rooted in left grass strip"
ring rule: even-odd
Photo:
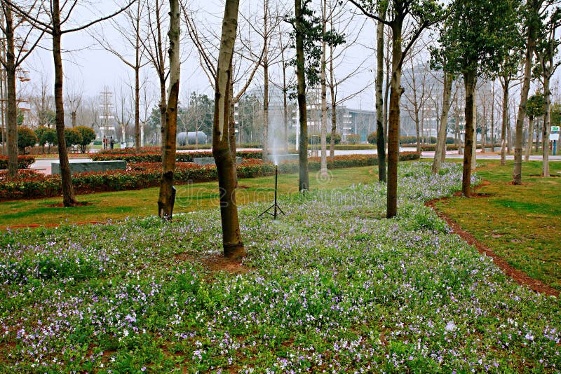
[[[77,32],[95,25],[97,22],[108,20],[125,11],[135,0],[130,1],[126,6],[110,15],[97,18],[95,20],[63,29],[62,27],[71,19],[72,11],[76,9],[78,0],[64,1],[62,6],[59,0],[45,1],[41,10],[43,13],[34,15],[29,8],[22,8],[13,4],[13,1],[2,0],[2,4],[11,7],[15,13],[21,15],[33,27],[52,36],[53,39],[53,63],[55,67],[55,109],[56,109],[56,129],[58,138],[58,158],[60,161],[60,177],[62,179],[62,203],[65,207],[72,207],[78,204],[74,196],[74,188],[72,186],[72,176],[70,174],[70,166],[68,162],[68,154],[65,144],[65,106],[62,97],[64,74],[62,72],[62,50],[60,41],[62,36],[72,32]]]

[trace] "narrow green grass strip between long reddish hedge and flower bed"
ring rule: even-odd
[[[370,183],[377,180],[377,167],[352,167],[330,170],[330,177],[323,180],[316,172],[310,173],[312,189],[332,189],[355,183]],[[254,201],[273,200],[274,176],[240,179],[236,198],[240,205]],[[279,195],[297,193],[298,174],[280,174]],[[1,202],[0,228],[16,225],[50,225],[88,221],[118,221],[127,217],[145,217],[157,214],[158,188],[94,193],[78,195],[83,207],[52,207],[62,202],[61,198],[41,200],[17,200]],[[177,186],[174,213],[193,212],[219,207],[218,183],[194,183]]]

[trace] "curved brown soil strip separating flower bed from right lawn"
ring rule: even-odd
[[[460,237],[468,242],[468,244],[472,244],[475,248],[477,248],[480,254],[485,254],[493,258],[494,264],[501,268],[501,270],[503,270],[503,272],[508,277],[511,277],[516,283],[522,286],[526,286],[537,293],[545,293],[549,296],[559,296],[559,291],[551,286],[548,286],[547,284],[544,284],[543,282],[540,282],[537,279],[529,277],[525,272],[513,268],[509,263],[506,262],[504,258],[495,254],[494,251],[487,247],[485,244],[478,242],[478,240],[476,240],[471,233],[468,233],[466,230],[461,228],[455,221],[450,219],[450,217],[446,216],[442,212],[439,212],[435,208],[435,202],[445,199],[447,198],[431,200],[426,202],[425,205],[427,207],[431,207],[441,219],[444,219],[448,223],[454,233],[460,235]]]

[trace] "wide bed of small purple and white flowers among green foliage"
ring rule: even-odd
[[[403,162],[399,186],[394,219],[381,183],[242,205],[228,266],[217,209],[0,230],[0,373],[558,373],[559,300],[424,206],[461,167]]]

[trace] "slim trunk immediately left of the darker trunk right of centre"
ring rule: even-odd
[[[386,19],[385,8],[380,11],[380,18]],[[376,27],[376,148],[378,153],[378,180],[386,183],[386,132],[384,131],[384,23],[379,22]]]

